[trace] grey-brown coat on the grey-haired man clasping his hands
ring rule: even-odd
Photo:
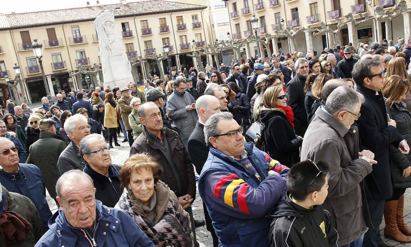
[[[357,126],[347,129],[324,107],[315,115],[304,136],[301,160],[323,160],[330,165],[328,197],[323,205],[340,235],[339,245],[346,245],[358,239],[367,225],[372,227],[362,181],[376,167],[358,157],[362,149]]]

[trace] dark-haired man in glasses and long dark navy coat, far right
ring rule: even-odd
[[[352,79],[357,84],[357,91],[365,98],[361,106],[361,118],[357,121],[361,143],[376,154],[375,160],[378,162],[372,169],[376,181],[368,185],[371,194],[368,207],[374,229],[370,228],[365,234],[364,246],[388,246],[381,239],[379,226],[385,200],[393,195],[389,147],[392,144],[398,147],[401,154],[408,154],[409,146],[397,131],[396,122],[387,118],[380,90],[384,79],[381,63],[372,59],[360,60],[354,65]]]

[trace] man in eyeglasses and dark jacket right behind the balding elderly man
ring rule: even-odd
[[[123,188],[121,188],[120,173],[111,163],[110,148],[104,137],[98,134],[84,137],[80,141],[79,152],[86,163],[83,172],[91,177],[96,188],[96,199],[103,205],[114,207],[120,199]]]

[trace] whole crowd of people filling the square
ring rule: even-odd
[[[9,100],[0,245],[199,246],[206,224],[220,247],[390,246],[383,216],[411,242],[410,58],[400,38]],[[129,157],[113,164],[121,134]]]

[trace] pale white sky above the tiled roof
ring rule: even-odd
[[[90,2],[90,5],[96,5],[96,0],[5,0],[2,1],[2,8],[0,13],[9,14],[11,12],[23,13],[34,12],[42,10],[53,9],[67,9],[86,7],[86,2]],[[117,4],[120,0],[99,0],[101,5],[104,4]],[[127,0],[127,2],[137,2],[138,0]]]

